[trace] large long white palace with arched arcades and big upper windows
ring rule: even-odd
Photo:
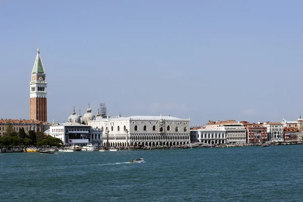
[[[95,117],[87,123],[104,131],[107,146],[174,146],[190,143],[190,119],[171,116]]]

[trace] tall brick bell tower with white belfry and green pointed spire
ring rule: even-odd
[[[45,71],[38,48],[30,81],[30,119],[47,122]]]

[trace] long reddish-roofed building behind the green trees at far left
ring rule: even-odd
[[[24,128],[25,133],[28,134],[30,130],[34,130],[36,132],[43,132],[45,123],[40,121],[25,120],[25,119],[1,119],[0,136],[3,136],[9,124],[12,125],[13,130],[15,130],[16,132],[19,132],[20,128]]]

